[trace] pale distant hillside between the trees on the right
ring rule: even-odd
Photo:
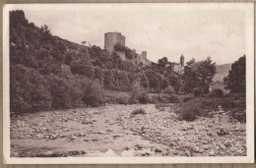
[[[216,71],[217,74],[215,75],[214,82],[217,81],[224,81],[224,77],[228,75],[229,70],[231,70],[231,65],[232,64],[223,64],[223,65],[217,65],[216,66]]]

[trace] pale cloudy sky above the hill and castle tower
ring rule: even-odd
[[[195,8],[196,7],[196,8]],[[121,32],[126,46],[148,52],[157,62],[167,57],[185,62],[211,56],[217,64],[232,63],[245,54],[245,10],[211,5],[87,5],[69,10],[24,10],[27,19],[47,25],[53,35],[103,48],[104,33]]]

